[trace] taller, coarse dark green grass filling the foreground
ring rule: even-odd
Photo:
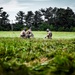
[[[75,39],[0,38],[1,75],[74,75]]]

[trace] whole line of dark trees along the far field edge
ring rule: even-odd
[[[0,31],[19,31],[23,28],[44,31],[49,28],[52,31],[75,31],[75,13],[70,8],[41,8],[27,14],[19,11],[15,16],[15,23],[10,23],[9,14],[0,7]]]

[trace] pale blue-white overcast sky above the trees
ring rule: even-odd
[[[70,7],[75,12],[75,0],[0,0],[0,7],[3,7],[10,16],[9,19],[14,20],[16,13],[19,11],[35,11],[40,8]]]

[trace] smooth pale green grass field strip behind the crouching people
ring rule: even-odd
[[[75,38],[75,32],[52,32],[53,39],[73,39]],[[46,36],[45,31],[33,31],[35,38],[44,38]],[[20,31],[0,31],[0,37],[20,37]]]

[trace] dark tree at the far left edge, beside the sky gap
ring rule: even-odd
[[[10,24],[9,24],[9,15],[6,11],[2,10],[3,8],[0,8],[0,30],[10,30]]]

